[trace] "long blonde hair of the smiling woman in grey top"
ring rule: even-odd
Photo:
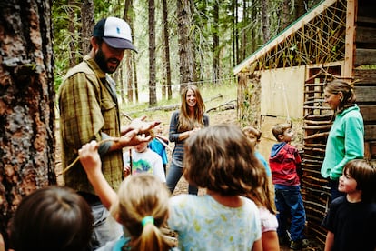
[[[196,105],[194,106],[194,119],[190,118],[189,105],[187,104],[187,93],[191,90],[196,97]],[[203,127],[203,114],[205,112],[205,105],[203,104],[203,97],[196,85],[187,85],[182,93],[182,105],[180,106],[178,132],[185,132],[192,130],[195,127]]]

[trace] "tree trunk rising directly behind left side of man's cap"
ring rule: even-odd
[[[82,55],[90,52],[90,38],[94,29],[94,3],[93,0],[84,0],[81,5],[82,24]]]

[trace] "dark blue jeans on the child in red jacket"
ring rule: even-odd
[[[286,235],[287,219],[291,216],[290,237],[292,241],[304,238],[305,210],[300,186],[275,185],[275,206],[277,206],[278,236]]]

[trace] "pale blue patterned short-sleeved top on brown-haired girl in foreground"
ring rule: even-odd
[[[257,206],[242,197],[241,207],[223,206],[212,196],[179,195],[170,199],[168,225],[178,232],[182,250],[251,250],[260,239]]]

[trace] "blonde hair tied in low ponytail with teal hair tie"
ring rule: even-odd
[[[173,246],[159,229],[168,216],[169,197],[167,188],[151,174],[124,179],[118,191],[119,201],[111,212],[131,234],[131,250],[169,250]]]

